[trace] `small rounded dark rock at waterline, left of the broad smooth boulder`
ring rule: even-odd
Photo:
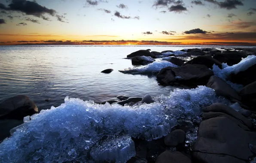
[[[168,66],[163,69],[156,75],[156,78],[159,82],[162,82],[164,84],[170,84],[173,82],[176,82],[175,74],[172,71],[173,67]]]

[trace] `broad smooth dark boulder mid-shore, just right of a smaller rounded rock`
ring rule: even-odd
[[[188,64],[173,68],[177,82],[183,85],[206,85],[213,72],[207,66],[200,64]]]

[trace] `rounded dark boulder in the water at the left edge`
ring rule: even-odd
[[[27,115],[38,112],[34,101],[25,95],[11,97],[0,103],[0,119],[9,118],[23,120]]]

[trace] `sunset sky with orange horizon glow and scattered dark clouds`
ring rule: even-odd
[[[256,0],[0,0],[0,45],[256,45]]]

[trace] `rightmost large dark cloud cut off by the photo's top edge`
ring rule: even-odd
[[[236,6],[244,6],[241,0],[225,0],[224,2],[218,2],[216,0],[204,0],[206,2],[214,3],[222,9],[237,9]]]

